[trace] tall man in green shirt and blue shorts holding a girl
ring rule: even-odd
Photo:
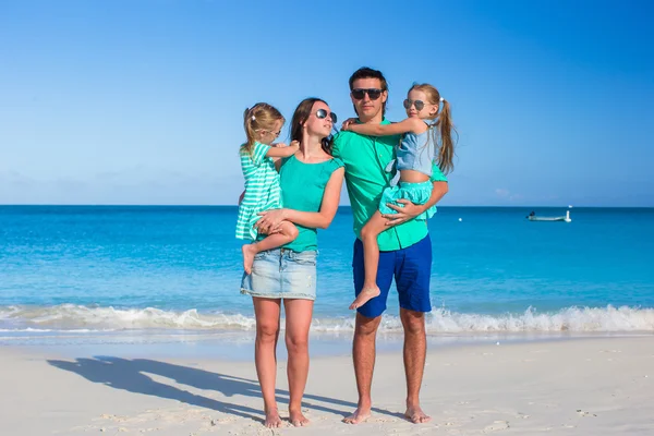
[[[350,96],[361,123],[389,122],[384,118],[388,85],[382,72],[361,68],[350,77]],[[346,184],[354,218],[354,291],[363,288],[364,264],[361,229],[379,207],[382,192],[390,181],[386,167],[395,157],[400,136],[364,136],[350,131],[338,134],[334,156],[346,165]],[[404,328],[404,372],[407,375],[407,419],[413,423],[431,420],[420,407],[420,388],[426,355],[425,313],[432,310],[429,277],[432,242],[426,221],[412,218],[435,205],[447,193],[447,179],[435,164],[434,190],[424,205],[400,201],[403,207],[389,205],[397,214],[386,215],[389,228],[378,237],[379,264],[377,286],[380,294],[356,310],[352,355],[359,390],[359,404],[350,424],[359,424],[371,415],[371,386],[375,365],[375,339],[392,279],[400,301],[400,318]]]

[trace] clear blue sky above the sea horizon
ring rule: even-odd
[[[2,0],[0,204],[234,204],[243,109],[368,65],[451,102],[444,205],[654,206],[652,4]]]

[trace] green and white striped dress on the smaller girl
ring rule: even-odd
[[[279,173],[275,162],[266,157],[270,146],[254,143],[252,154],[241,152],[241,169],[245,178],[245,195],[239,206],[237,238],[255,241],[254,223],[261,218],[258,213],[281,207]]]

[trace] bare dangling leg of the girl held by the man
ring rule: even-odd
[[[377,265],[379,264],[379,245],[377,244],[377,237],[384,230],[386,230],[386,218],[382,217],[379,210],[373,215],[361,230],[365,279],[363,282],[363,290],[359,296],[356,296],[356,300],[350,304],[351,310],[360,307],[370,299],[379,295],[379,288],[377,287]]]

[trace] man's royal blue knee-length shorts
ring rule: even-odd
[[[363,242],[354,241],[352,258],[354,292],[363,288],[365,267],[363,264]],[[432,276],[432,240],[427,234],[422,241],[405,249],[379,252],[377,286],[382,293],[356,311],[368,318],[376,318],[386,311],[386,300],[392,278],[396,279],[400,307],[415,312],[431,312],[429,278]]]

